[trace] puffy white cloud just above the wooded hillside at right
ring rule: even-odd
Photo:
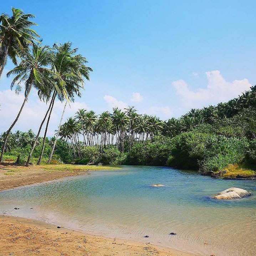
[[[173,82],[178,95],[181,96],[183,104],[187,107],[204,107],[209,104],[229,101],[237,97],[242,92],[249,90],[251,84],[244,78],[227,82],[220,74],[219,70],[206,72],[208,85],[206,88],[199,88],[195,91],[190,90],[184,80]]]

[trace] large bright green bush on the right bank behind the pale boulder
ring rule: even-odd
[[[182,169],[218,171],[228,164],[244,160],[246,138],[227,138],[222,135],[186,132],[173,138],[174,148],[167,165]]]

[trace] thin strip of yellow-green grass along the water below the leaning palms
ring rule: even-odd
[[[105,165],[75,165],[75,164],[58,164],[58,165],[43,165],[41,166],[47,171],[111,171],[122,169],[116,166]]]

